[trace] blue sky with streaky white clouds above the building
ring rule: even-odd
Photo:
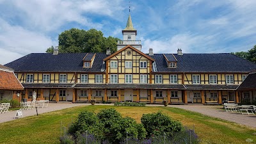
[[[256,45],[254,0],[0,0],[0,64],[58,45],[70,28],[122,39],[131,5],[142,51],[220,53]]]

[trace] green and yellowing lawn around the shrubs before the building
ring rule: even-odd
[[[191,129],[195,125],[201,143],[248,143],[248,140],[256,143],[256,129],[184,109],[96,105],[62,109],[0,124],[0,143],[59,143],[61,122],[68,127],[81,111],[87,109],[98,113],[106,108],[115,108],[122,116],[131,116],[137,122],[143,113],[162,111]]]

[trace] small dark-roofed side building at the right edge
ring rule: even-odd
[[[237,88],[242,103],[252,103],[256,101],[256,70],[253,70],[243,83]]]

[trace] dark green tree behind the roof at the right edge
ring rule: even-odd
[[[235,54],[236,56],[239,56],[240,58],[243,58],[244,60],[252,61],[253,63],[256,63],[256,45],[252,49],[250,49],[248,52],[231,52],[232,54]]]

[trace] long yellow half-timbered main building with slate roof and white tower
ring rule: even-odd
[[[22,97],[50,101],[163,102],[171,104],[241,102],[239,84],[256,64],[233,54],[148,54],[131,15],[117,50],[106,53],[28,54],[6,64],[25,91]]]

